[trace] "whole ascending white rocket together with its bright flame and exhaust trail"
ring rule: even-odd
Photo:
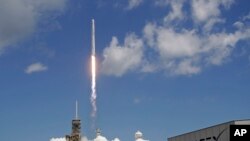
[[[91,35],[91,105],[93,118],[96,117],[96,58],[95,58],[95,21],[92,19],[92,35]]]

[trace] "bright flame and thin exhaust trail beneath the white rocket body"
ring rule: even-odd
[[[92,113],[91,116],[93,118],[96,117],[96,111],[97,111],[97,107],[96,107],[96,59],[95,59],[95,55],[91,55],[91,73],[92,73],[92,85],[91,85],[91,105],[92,105]]]

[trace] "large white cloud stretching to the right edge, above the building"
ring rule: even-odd
[[[236,44],[250,37],[250,29],[233,33],[202,34],[195,30],[176,31],[174,27],[149,23],[144,28],[148,45],[159,54],[156,70],[173,75],[192,75],[206,65],[221,65]]]

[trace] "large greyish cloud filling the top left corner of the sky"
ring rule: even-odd
[[[61,13],[66,0],[1,0],[0,54],[36,31],[52,13]]]

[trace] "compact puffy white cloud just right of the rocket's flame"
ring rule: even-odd
[[[116,37],[104,49],[102,72],[107,75],[121,76],[125,72],[134,70],[142,62],[143,41],[136,35],[126,36],[124,45],[120,45]]]

